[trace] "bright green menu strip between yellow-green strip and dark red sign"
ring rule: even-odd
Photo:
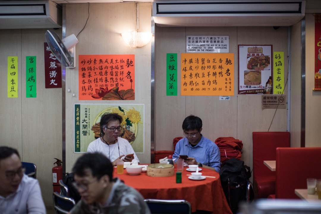
[[[26,56],[26,98],[37,97],[36,56]]]

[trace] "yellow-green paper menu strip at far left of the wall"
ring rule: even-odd
[[[8,98],[18,97],[18,56],[8,56]]]

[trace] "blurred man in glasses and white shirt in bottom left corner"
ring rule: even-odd
[[[39,183],[24,174],[16,149],[0,147],[0,213],[45,214]]]

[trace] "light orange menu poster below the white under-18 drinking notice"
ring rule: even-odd
[[[234,96],[234,54],[181,54],[181,95]]]

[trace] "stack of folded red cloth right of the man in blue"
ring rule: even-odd
[[[221,152],[221,163],[231,158],[241,159],[242,141],[234,137],[219,137],[215,140],[215,143]]]

